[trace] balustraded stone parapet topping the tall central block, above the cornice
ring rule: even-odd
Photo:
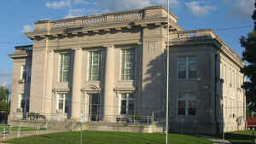
[[[171,15],[170,19],[173,22],[177,23],[177,16],[172,13],[169,14]],[[147,20],[152,17],[167,17],[167,9],[164,6],[160,5],[146,7],[143,9],[133,9],[108,14],[96,14],[61,20],[38,20],[37,22],[35,22],[35,32],[51,31],[61,28],[94,26],[98,23],[111,21]]]

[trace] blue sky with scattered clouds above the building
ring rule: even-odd
[[[14,46],[32,43],[24,32],[33,31],[37,20],[138,9],[167,0],[9,0],[3,1],[0,32],[0,85],[10,86]],[[184,30],[212,28],[241,55],[239,38],[253,30],[253,0],[170,0],[171,12]],[[241,27],[242,26],[242,27]],[[227,29],[230,28],[230,29]]]

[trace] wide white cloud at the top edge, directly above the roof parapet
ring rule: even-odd
[[[96,5],[111,11],[139,9],[156,4],[166,4],[166,0],[95,0]],[[173,8],[178,4],[178,0],[170,0],[170,5]]]

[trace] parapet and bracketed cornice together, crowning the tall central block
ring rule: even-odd
[[[167,26],[167,14],[173,30],[182,30],[177,25],[177,16],[167,13],[163,6],[135,9],[109,14],[97,14],[63,20],[40,20],[34,32],[27,32],[32,40],[68,35],[83,35],[100,32],[119,32],[123,29],[147,28],[149,25]]]

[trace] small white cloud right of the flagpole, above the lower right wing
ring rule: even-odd
[[[189,2],[185,3],[186,6],[189,8],[192,14],[200,15],[200,14],[209,14],[210,11],[215,10],[215,7],[204,5],[201,6],[199,2]]]

